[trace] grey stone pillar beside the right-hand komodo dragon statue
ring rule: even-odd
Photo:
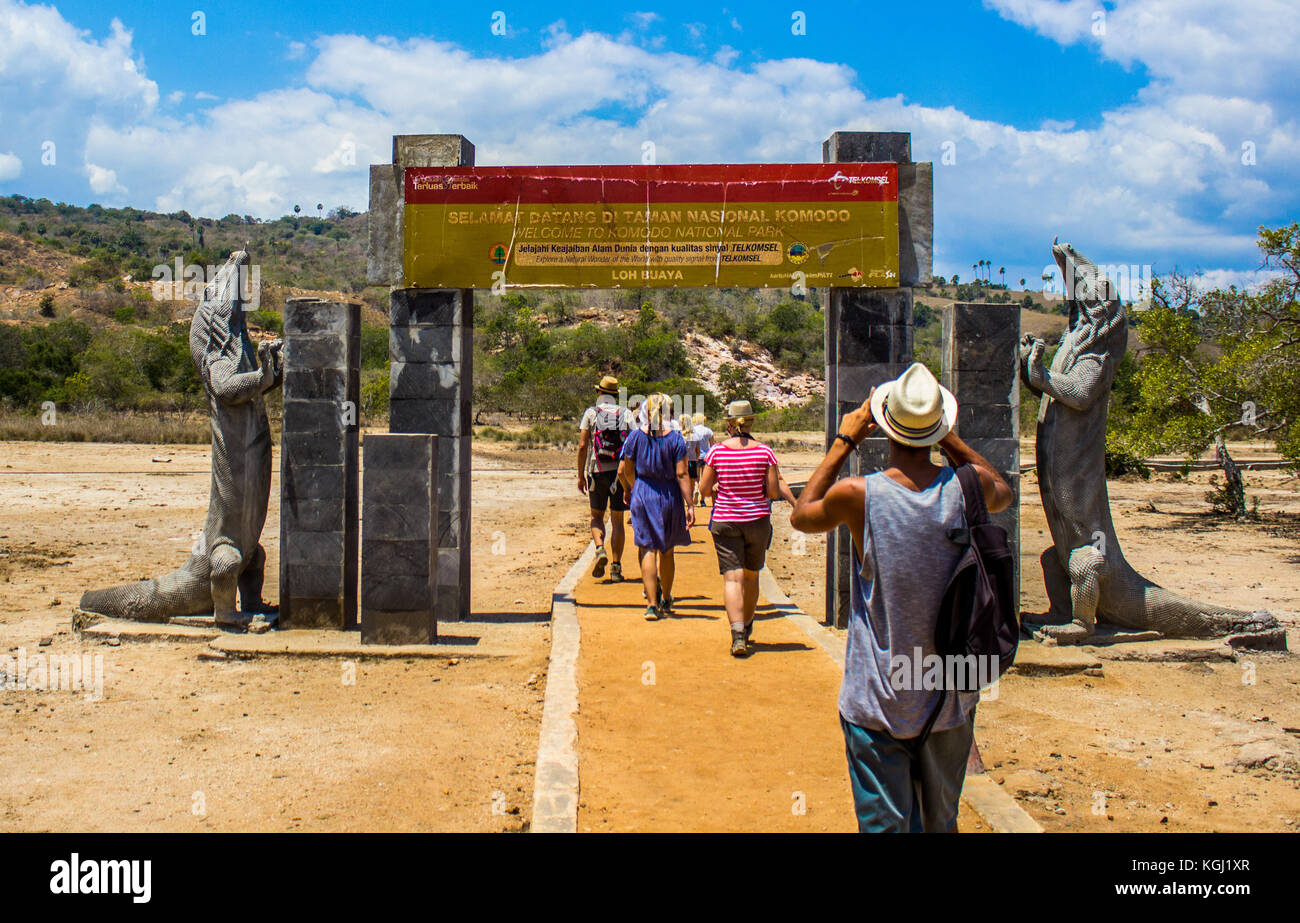
[[[944,312],[944,384],[957,396],[957,434],[997,468],[1015,502],[992,520],[1006,529],[1020,589],[1019,304],[954,304]]]

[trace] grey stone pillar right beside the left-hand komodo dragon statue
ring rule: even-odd
[[[356,628],[361,306],[285,303],[280,625]]]

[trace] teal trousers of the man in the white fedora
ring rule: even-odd
[[[840,716],[853,807],[862,833],[950,833],[966,781],[966,760],[975,740],[975,710],[966,723],[937,731],[920,751],[919,781],[913,779],[913,741],[870,731]]]

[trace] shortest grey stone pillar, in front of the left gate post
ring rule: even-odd
[[[438,640],[436,436],[365,437],[361,644]]]

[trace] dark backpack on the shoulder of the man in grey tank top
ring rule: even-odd
[[[1006,529],[988,519],[984,488],[975,465],[958,467],[957,481],[966,500],[966,528],[950,529],[948,538],[965,550],[948,578],[935,625],[935,650],[945,663],[945,684],[939,705],[914,741],[914,758],[930,737],[948,694],[979,692],[992,685],[1015,660],[1020,642],[1015,556]],[[954,658],[963,658],[963,670],[946,668]],[[946,680],[953,680],[953,688]],[[913,771],[914,775],[919,771],[919,759],[914,759]]]

